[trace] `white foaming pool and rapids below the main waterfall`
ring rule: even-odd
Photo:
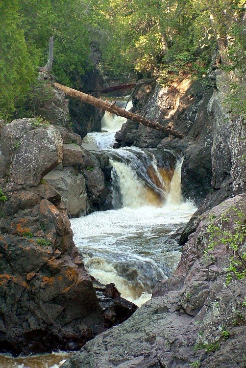
[[[116,167],[124,165],[117,163]],[[140,306],[150,298],[157,281],[165,279],[178,263],[178,247],[163,243],[189,221],[195,208],[191,203],[177,203],[171,193],[161,207],[146,205],[143,186],[134,172],[128,177],[124,174],[122,187],[128,195],[122,209],[94,212],[72,219],[71,224],[90,274],[103,284],[115,283],[124,298]]]

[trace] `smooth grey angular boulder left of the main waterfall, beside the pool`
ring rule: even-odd
[[[87,213],[89,208],[85,178],[76,174],[74,167],[50,171],[44,179],[52,185],[63,199],[69,217],[79,217]]]

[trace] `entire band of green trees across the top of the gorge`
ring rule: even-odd
[[[243,0],[149,0],[148,6],[146,0],[2,0],[0,118],[9,120],[17,108],[18,117],[35,117],[41,96],[49,99],[36,70],[47,61],[51,35],[52,74],[77,89],[100,54],[100,67],[110,78],[161,70],[166,84],[187,74],[203,78],[215,45],[222,54],[224,42],[225,67],[242,68],[243,5]],[[241,92],[232,86],[231,105],[243,114]]]

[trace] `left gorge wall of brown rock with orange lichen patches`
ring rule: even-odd
[[[81,148],[65,96],[54,90],[50,106],[53,125],[0,125],[1,352],[78,349],[137,308],[95,283],[74,245],[69,217],[103,207],[110,168]]]

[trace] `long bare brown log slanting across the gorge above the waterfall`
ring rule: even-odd
[[[171,134],[174,137],[177,138],[183,138],[184,134],[180,133],[179,131],[176,131],[175,129],[172,128],[167,128],[162,126],[159,123],[153,123],[152,121],[140,116],[140,115],[136,115],[133,114],[130,111],[126,111],[123,108],[120,108],[116,105],[112,105],[107,101],[102,101],[96,97],[93,97],[91,95],[88,95],[86,93],[77,91],[76,89],[67,87],[65,85],[59,84],[59,83],[54,83],[54,87],[60,89],[61,91],[65,92],[66,95],[71,96],[71,97],[75,97],[77,99],[79,99],[80,101],[89,104],[89,105],[93,105],[95,107],[98,107],[99,109],[105,110],[105,111],[109,111],[117,116],[122,116],[123,118],[126,119],[130,119],[133,121],[136,121],[137,123],[143,124],[145,127],[148,128],[152,128],[155,129],[157,131],[163,131],[167,134]]]

